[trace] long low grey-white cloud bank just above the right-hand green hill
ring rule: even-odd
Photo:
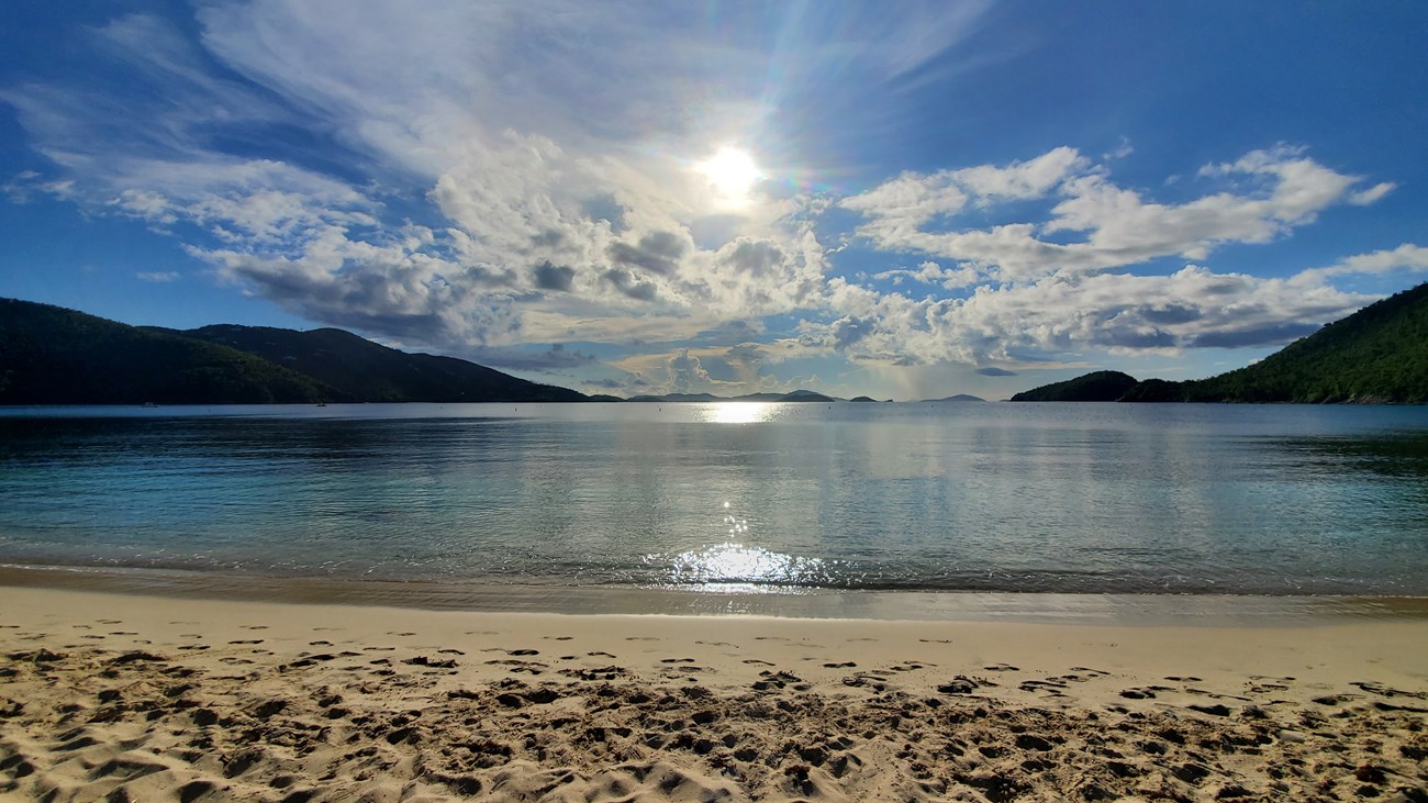
[[[1170,276],[1062,274],[941,300],[834,280],[833,304],[843,314],[805,324],[804,340],[863,363],[1017,364],[1085,349],[1278,344],[1371,300],[1197,266]]]

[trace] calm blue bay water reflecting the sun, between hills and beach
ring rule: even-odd
[[[9,409],[0,562],[1422,596],[1428,407]]]

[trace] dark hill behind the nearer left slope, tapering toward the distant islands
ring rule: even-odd
[[[408,354],[340,329],[216,324],[176,334],[231,346],[361,402],[584,402],[564,387],[433,354]]]

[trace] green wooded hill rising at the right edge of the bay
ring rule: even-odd
[[[1252,366],[1210,379],[1140,381],[1105,370],[1011,400],[1428,404],[1428,283],[1369,304]]]

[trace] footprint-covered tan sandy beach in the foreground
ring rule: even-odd
[[[0,587],[14,800],[1428,800],[1428,619],[567,616]]]

